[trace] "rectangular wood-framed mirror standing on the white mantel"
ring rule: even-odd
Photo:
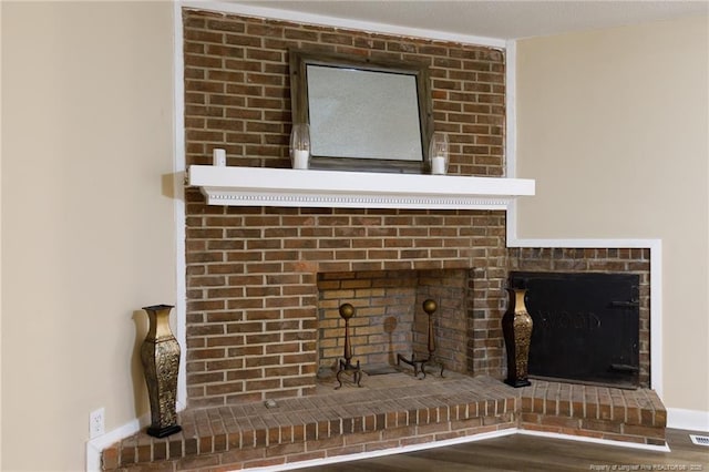
[[[425,172],[427,64],[292,49],[289,65],[292,122],[309,125],[311,168]]]

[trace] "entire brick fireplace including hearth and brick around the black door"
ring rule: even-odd
[[[504,175],[504,51],[198,10],[183,14],[187,165],[209,164],[212,148],[223,147],[230,166],[289,167],[288,49],[307,47],[424,62],[435,129],[451,142],[450,173]],[[647,389],[648,249],[507,248],[505,213],[496,211],[224,207],[206,205],[192,187],[185,198],[184,431],[162,440],[143,432],[127,438],[103,452],[105,470],[235,470],[510,428],[664,444],[665,409]],[[510,270],[640,275],[644,388],[534,381],[515,390],[502,383]],[[452,274],[461,275],[458,281],[430,283]],[[370,388],[346,386],[337,393],[332,381],[318,384],[318,369],[341,349],[337,306],[356,300],[362,317],[374,306],[371,316],[420,317],[420,294],[388,291],[376,280],[409,290],[402,280],[421,279],[429,280],[424,295],[439,300],[436,343],[451,374],[413,384],[404,373],[393,376],[404,377],[400,384],[370,377]],[[395,332],[394,350],[421,351],[413,319],[399,320],[398,329],[408,331]],[[335,335],[326,341],[327,329]],[[354,358],[387,363],[383,328],[361,329]],[[371,348],[372,337],[380,348]],[[267,399],[278,401],[277,411],[266,409]]]

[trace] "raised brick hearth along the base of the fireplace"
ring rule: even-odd
[[[395,449],[511,428],[665,444],[666,411],[651,390],[534,380],[513,389],[490,377],[374,376],[363,388],[278,401],[189,409],[183,431],[144,432],[103,452],[104,470],[239,470]]]

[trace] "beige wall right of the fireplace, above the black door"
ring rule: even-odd
[[[709,38],[692,18],[517,43],[520,238],[660,238],[664,401],[709,412]]]

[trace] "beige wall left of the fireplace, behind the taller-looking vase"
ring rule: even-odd
[[[2,470],[83,470],[92,410],[148,412],[140,308],[176,301],[172,12],[2,2]]]

